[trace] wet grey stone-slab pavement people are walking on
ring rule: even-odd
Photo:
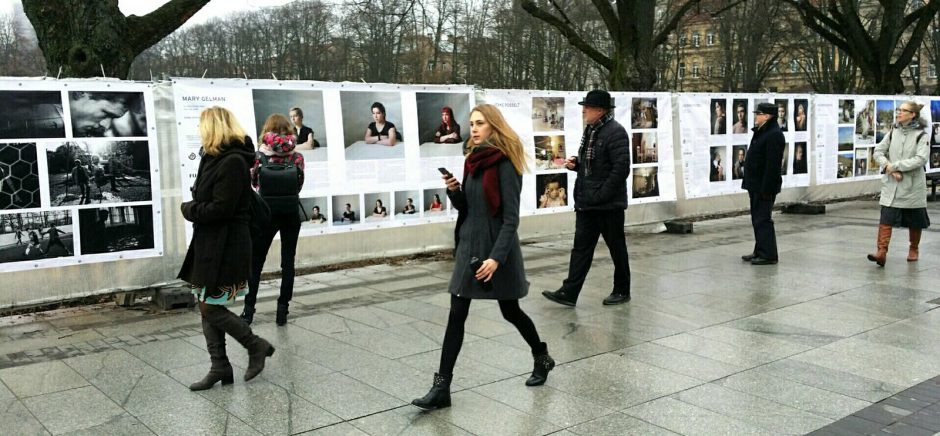
[[[187,389],[209,368],[194,310],[0,319],[0,433],[934,434],[940,226],[916,263],[896,231],[878,268],[865,260],[877,217],[874,201],[775,214],[773,266],[741,262],[747,216],[628,235],[633,301],[613,307],[601,305],[613,274],[603,244],[572,309],[539,295],[565,276],[571,235],[528,241],[522,306],[559,365],[545,386],[524,386],[525,343],[494,302],[474,302],[453,407],[430,413],[408,403],[437,367],[449,262],[298,277],[285,327],[277,282],[265,283],[255,331],[277,352],[244,383],[247,355],[229,338],[235,384],[200,393]]]

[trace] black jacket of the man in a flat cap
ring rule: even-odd
[[[783,183],[780,166],[783,165],[786,139],[776,118],[751,130],[754,131],[754,137],[744,157],[744,181],[741,188],[757,194],[777,194]]]

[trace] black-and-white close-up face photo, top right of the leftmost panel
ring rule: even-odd
[[[69,92],[72,136],[126,138],[147,136],[142,92]]]

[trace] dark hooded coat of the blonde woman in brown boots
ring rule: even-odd
[[[248,137],[244,143],[224,146],[218,156],[202,157],[192,188],[193,200],[180,205],[183,217],[193,223],[193,240],[178,278],[194,286],[205,286],[208,291],[248,280],[249,168],[254,159]]]

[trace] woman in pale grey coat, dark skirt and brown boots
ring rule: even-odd
[[[910,231],[908,262],[919,257],[918,246],[923,229],[930,226],[927,216],[927,182],[924,166],[930,154],[928,124],[919,117],[924,107],[906,101],[895,111],[894,128],[875,147],[875,160],[881,167],[881,220],[878,223],[878,251],[868,260],[884,266],[891,241],[892,227]]]

